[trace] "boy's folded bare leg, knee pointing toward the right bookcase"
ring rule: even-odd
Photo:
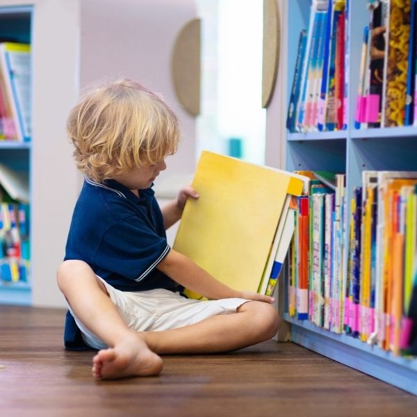
[[[265,302],[242,304],[237,313],[206,318],[194,325],[162,332],[142,332],[158,354],[213,353],[240,349],[275,336],[277,311]]]

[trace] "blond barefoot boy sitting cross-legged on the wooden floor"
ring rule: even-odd
[[[159,354],[224,352],[277,332],[272,297],[234,291],[167,245],[190,187],[158,207],[152,185],[177,150],[177,117],[142,85],[88,92],[67,132],[85,181],[74,208],[58,286],[69,305],[65,346],[99,350],[92,375],[158,375]],[[182,289],[209,301],[188,300]]]

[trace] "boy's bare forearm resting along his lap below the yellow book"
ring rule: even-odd
[[[229,288],[213,278],[190,258],[175,250],[170,250],[167,256],[158,263],[157,268],[182,286],[211,300],[237,297],[246,300],[274,302],[274,299],[267,295],[252,293],[251,291],[236,291]]]

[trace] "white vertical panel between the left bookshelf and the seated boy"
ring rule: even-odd
[[[63,260],[78,180],[65,121],[78,91],[79,1],[34,1],[31,260],[33,304],[63,305]]]

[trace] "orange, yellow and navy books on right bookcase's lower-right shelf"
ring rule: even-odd
[[[417,354],[417,172],[364,171],[351,202],[347,334]]]

